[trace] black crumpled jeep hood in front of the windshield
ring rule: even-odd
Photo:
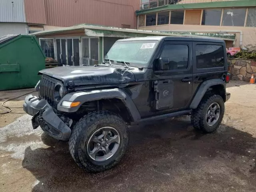
[[[112,66],[61,66],[40,70],[38,74],[59,79],[65,86],[69,81],[73,81],[75,86],[122,84],[135,81],[131,71]]]

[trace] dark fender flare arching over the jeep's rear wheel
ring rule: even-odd
[[[198,88],[191,104],[190,104],[190,109],[196,109],[200,101],[202,100],[204,94],[208,90],[209,87],[214,86],[214,85],[222,85],[226,94],[226,82],[220,79],[210,79],[204,81],[200,87]]]

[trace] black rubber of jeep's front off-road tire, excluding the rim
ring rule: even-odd
[[[109,159],[99,162],[90,158],[87,144],[92,134],[106,126],[115,128],[120,136],[120,144],[116,153]],[[117,115],[108,111],[90,112],[81,118],[74,126],[69,150],[75,162],[87,172],[100,172],[112,168],[121,160],[129,142],[126,123]]]

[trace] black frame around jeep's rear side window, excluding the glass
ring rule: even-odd
[[[224,54],[224,66],[221,67],[210,67],[210,68],[197,68],[196,62],[196,46],[197,45],[217,45],[222,46]],[[206,73],[206,72],[216,72],[216,71],[225,71],[227,70],[227,55],[225,54],[226,45],[225,43],[216,43],[216,42],[193,42],[193,73]]]

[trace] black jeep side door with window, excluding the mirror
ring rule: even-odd
[[[154,110],[181,110],[188,107],[192,95],[192,43],[165,42],[160,58],[168,58],[166,70],[154,71]]]

